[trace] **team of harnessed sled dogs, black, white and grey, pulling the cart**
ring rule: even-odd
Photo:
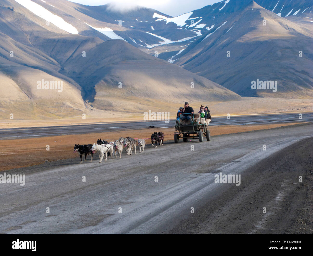
[[[163,146],[163,140],[164,140],[164,133],[158,132],[158,133],[153,133],[151,135],[151,145],[153,146],[153,143],[155,143],[155,148],[157,147],[157,143],[159,143],[160,146]],[[83,163],[83,155],[85,155],[85,161],[87,158],[87,155],[91,155],[91,161],[92,163],[93,160],[93,155],[95,153],[99,153],[99,158],[100,161],[99,163],[102,162],[103,157],[105,156],[104,161],[107,160],[107,158],[111,157],[113,158],[113,155],[115,154],[115,158],[117,158],[117,154],[119,154],[119,158],[122,157],[122,151],[123,148],[125,147],[127,155],[131,155],[132,151],[135,149],[135,154],[136,154],[136,143],[138,143],[140,152],[144,151],[146,141],[144,139],[138,139],[137,141],[134,138],[124,138],[121,137],[115,141],[110,141],[107,142],[105,140],[98,139],[97,143],[92,144],[85,144],[85,145],[80,145],[80,144],[75,144],[74,146],[74,153],[78,152],[80,155],[80,163]],[[142,149],[142,151],[141,151]]]

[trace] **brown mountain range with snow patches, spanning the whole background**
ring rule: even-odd
[[[114,4],[0,0],[0,116],[115,117],[186,100],[312,99],[312,5],[227,0],[171,17]],[[256,79],[277,81],[277,91],[251,89]],[[62,91],[38,89],[40,81],[62,81]]]

